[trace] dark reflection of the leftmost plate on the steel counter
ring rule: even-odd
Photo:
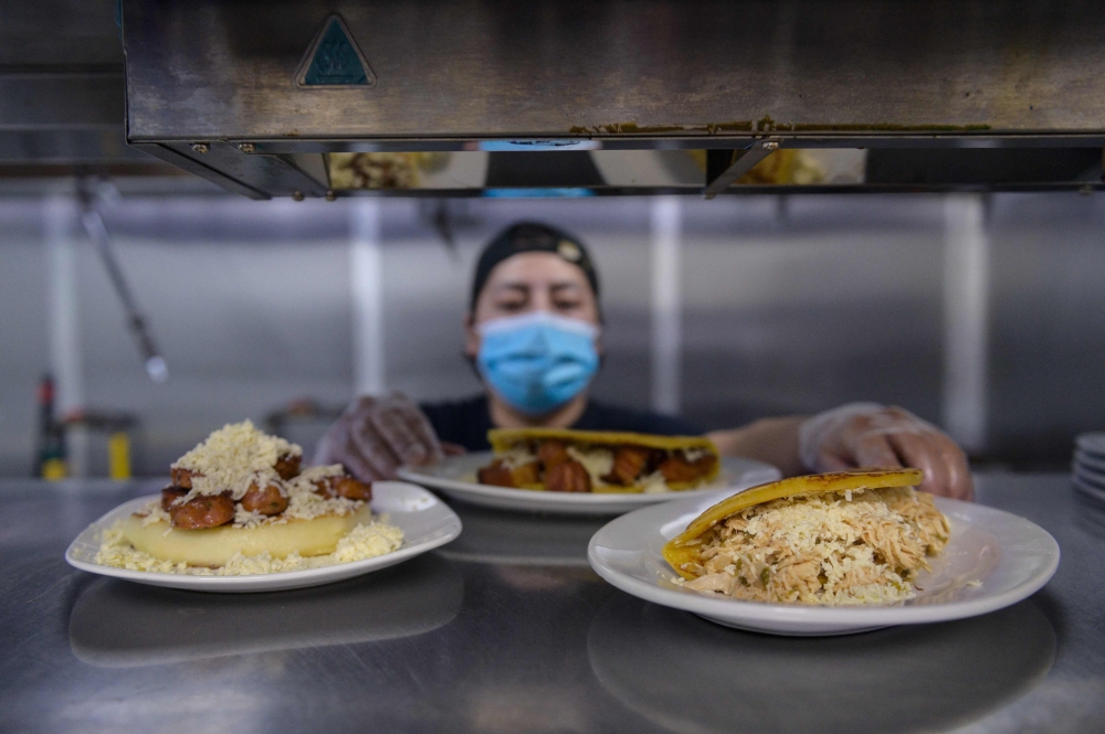
[[[401,567],[276,594],[194,594],[99,578],[73,605],[70,647],[91,666],[135,668],[399,639],[452,621],[464,578],[430,553]]]

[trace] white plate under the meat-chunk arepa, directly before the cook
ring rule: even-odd
[[[402,467],[399,478],[418,485],[432,487],[445,494],[473,504],[498,508],[501,510],[527,510],[530,512],[558,512],[564,514],[614,514],[629,512],[646,504],[667,502],[687,497],[713,497],[717,492],[730,494],[741,489],[765,485],[782,475],[770,464],[753,459],[724,457],[722,477],[717,487],[691,489],[682,492],[657,492],[640,494],[604,494],[592,492],[545,492],[532,489],[492,487],[465,481],[480,467],[494,459],[492,451],[477,451],[454,456],[424,467]]]

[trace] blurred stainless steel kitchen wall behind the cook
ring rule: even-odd
[[[63,411],[139,418],[136,474],[165,474],[211,429],[294,401],[303,416],[276,419],[309,443],[355,392],[469,395],[471,269],[519,219],[593,249],[604,400],[704,428],[876,400],[1022,468],[1065,462],[1075,433],[1105,424],[1099,196],[128,193],[103,211],[170,377],[146,376],[71,193],[0,196],[2,476],[30,472],[45,372]],[[94,456],[88,470],[105,466]]]

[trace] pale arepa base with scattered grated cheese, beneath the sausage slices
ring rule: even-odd
[[[282,573],[286,571],[306,571],[322,568],[339,563],[351,563],[385,555],[398,550],[403,544],[403,531],[380,518],[368,524],[358,524],[345,538],[338,541],[337,547],[328,555],[302,557],[293,553],[285,559],[274,559],[267,552],[260,555],[235,554],[223,566],[206,568],[189,566],[186,563],[161,561],[149,553],[135,550],[123,536],[122,525],[105,530],[101,539],[96,563],[116,568],[145,571],[162,574],[182,574],[192,576],[248,576],[254,574]]]

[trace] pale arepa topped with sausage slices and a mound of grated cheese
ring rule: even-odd
[[[161,573],[301,571],[389,553],[402,531],[373,518],[345,468],[301,468],[303,449],[249,421],[171,466],[172,483],[104,533],[96,563]]]

